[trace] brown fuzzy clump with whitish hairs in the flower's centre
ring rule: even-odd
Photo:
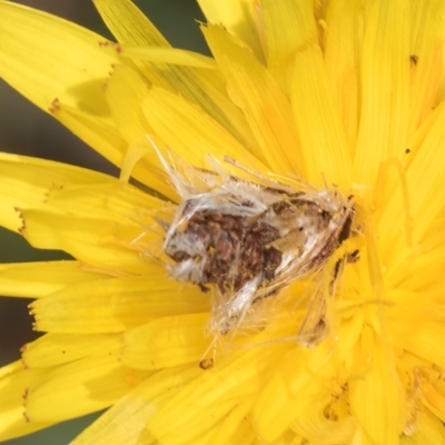
[[[295,187],[256,174],[250,180],[219,165],[214,170],[190,167],[195,172],[180,175],[161,160],[182,198],[171,221],[158,220],[169,271],[212,293],[214,334],[228,334],[243,325],[256,301],[320,271],[350,236],[354,199],[335,187],[315,189],[303,181]],[[199,184],[189,179],[196,177]],[[338,260],[330,293],[340,267]],[[328,304],[326,291],[315,291],[299,327],[299,344],[314,347],[326,337]]]

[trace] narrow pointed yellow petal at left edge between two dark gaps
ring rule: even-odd
[[[67,285],[98,278],[78,261],[9,263],[0,265],[0,294],[39,298]]]

